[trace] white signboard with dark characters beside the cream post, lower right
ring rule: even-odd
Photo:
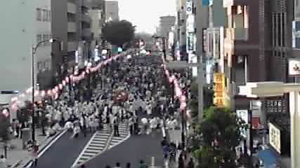
[[[272,123],[269,123],[269,143],[278,153],[281,153],[280,130]]]

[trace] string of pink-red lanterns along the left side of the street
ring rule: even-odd
[[[58,99],[58,92],[60,90],[63,90],[63,88],[67,85],[67,83],[70,83],[71,81],[73,83],[77,83],[80,80],[83,80],[86,77],[86,74],[89,73],[95,73],[96,71],[100,70],[103,66],[106,66],[106,64],[112,62],[112,60],[116,60],[118,57],[123,57],[124,55],[127,55],[131,50],[127,50],[125,52],[122,52],[121,54],[115,55],[113,57],[110,57],[109,59],[106,59],[104,62],[100,62],[94,67],[86,67],[85,71],[81,72],[78,76],[74,76],[74,74],[65,77],[56,87],[53,87],[53,89],[49,90],[35,90],[34,91],[34,97],[46,97],[51,96],[54,97],[54,99]],[[27,94],[32,93],[33,87],[28,88],[23,92],[22,94],[18,95],[17,97],[11,98],[11,107],[12,109],[18,109],[18,101],[20,101],[23,97],[26,97]]]

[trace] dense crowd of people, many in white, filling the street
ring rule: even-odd
[[[184,93],[190,97],[188,73],[173,73],[180,79]],[[40,118],[37,126],[43,127],[46,136],[51,137],[60,130],[68,130],[73,132],[72,138],[77,139],[79,134],[86,137],[86,132],[96,132],[103,129],[104,125],[108,132],[119,136],[119,123],[126,123],[130,134],[150,134],[162,126],[167,129],[178,127],[179,100],[171,95],[172,88],[164,76],[160,57],[136,55],[119,58],[107,64],[105,73],[101,71],[96,81],[98,84],[91,99],[81,98],[70,104],[72,97],[62,92],[51,104],[48,102],[44,106],[36,106],[36,116]],[[32,120],[29,118],[21,125],[19,120],[14,119],[12,131],[15,137],[22,137],[20,128],[30,125]],[[173,148],[174,144],[168,144],[168,155],[178,151],[178,148]],[[177,158],[181,160],[181,155]],[[141,165],[145,165],[143,160]],[[127,167],[130,167],[130,163]]]

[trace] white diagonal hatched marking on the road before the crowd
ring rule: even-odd
[[[108,133],[107,125],[104,124],[103,130],[96,132],[93,137],[91,137],[91,140],[88,142],[88,144],[86,144],[84,150],[81,151],[79,157],[73,163],[72,167],[78,167],[96,155],[103,153],[103,151],[105,151],[105,147],[107,146],[107,141],[110,141],[110,144],[107,146],[108,149],[110,149],[118,144],[121,144],[130,137],[129,130],[125,123],[119,124],[119,137],[112,136],[110,139],[111,134],[113,134],[113,132]]]

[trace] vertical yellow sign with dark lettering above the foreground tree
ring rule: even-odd
[[[225,106],[225,73],[214,73],[214,105]]]

